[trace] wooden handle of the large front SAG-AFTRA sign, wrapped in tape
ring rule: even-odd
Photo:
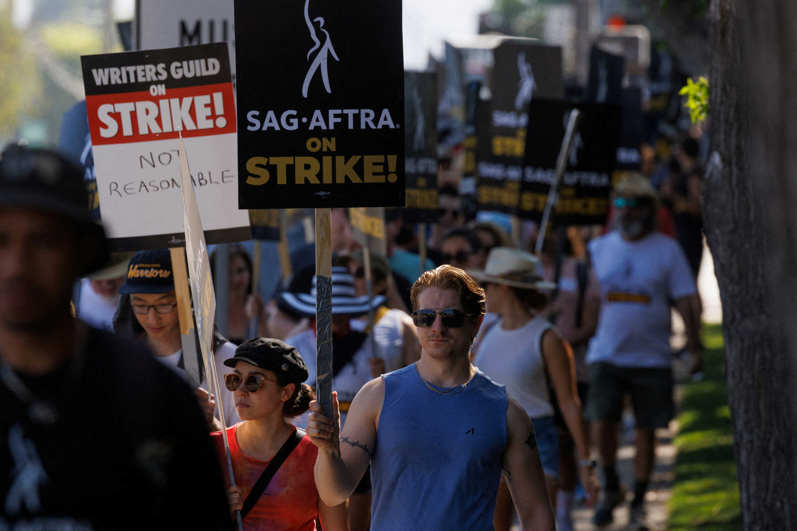
[[[316,208],[316,400],[332,417],[332,211]]]

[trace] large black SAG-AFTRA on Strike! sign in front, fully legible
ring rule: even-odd
[[[400,0],[235,2],[241,208],[404,205],[401,30]]]

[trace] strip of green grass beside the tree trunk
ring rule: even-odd
[[[685,385],[669,531],[739,531],[741,515],[720,325],[706,325],[705,378]]]

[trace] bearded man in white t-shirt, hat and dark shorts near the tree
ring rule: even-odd
[[[603,467],[603,491],[593,523],[609,525],[623,500],[615,468],[623,400],[634,407],[634,501],[630,529],[643,529],[645,494],[657,428],[673,419],[671,305],[681,313],[693,372],[702,364],[697,287],[681,246],[656,231],[658,199],[647,179],[630,175],[614,191],[618,230],[589,244],[601,288],[598,328],[587,349],[587,419]]]

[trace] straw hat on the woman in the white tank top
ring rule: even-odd
[[[487,255],[487,264],[482,270],[467,273],[478,281],[505,284],[522,289],[554,289],[556,284],[543,280],[540,261],[524,250],[511,247],[495,247]]]

